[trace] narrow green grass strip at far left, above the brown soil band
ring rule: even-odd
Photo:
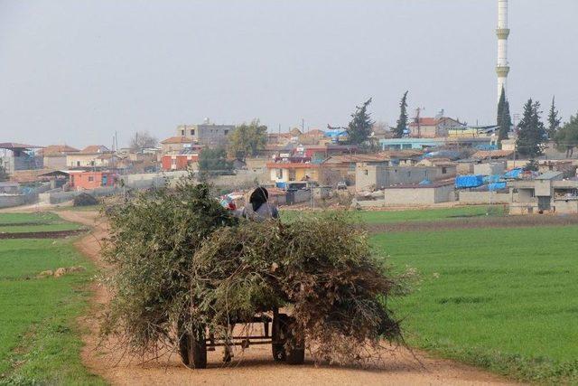
[[[62,221],[53,213],[2,213],[0,214],[0,233],[72,231],[81,226]]]

